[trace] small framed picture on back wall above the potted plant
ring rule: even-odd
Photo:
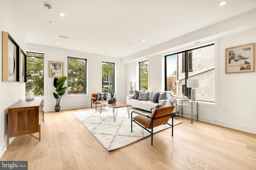
[[[63,77],[63,62],[49,61],[49,77]]]

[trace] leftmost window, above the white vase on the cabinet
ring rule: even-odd
[[[26,55],[26,93],[31,90],[35,96],[44,96],[44,54],[26,52]]]

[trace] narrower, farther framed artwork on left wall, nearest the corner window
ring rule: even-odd
[[[27,55],[20,48],[20,82],[27,82]]]

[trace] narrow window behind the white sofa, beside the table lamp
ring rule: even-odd
[[[139,63],[140,66],[140,90],[148,90],[148,61]]]

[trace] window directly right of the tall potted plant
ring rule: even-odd
[[[86,59],[68,57],[68,95],[87,94]]]

